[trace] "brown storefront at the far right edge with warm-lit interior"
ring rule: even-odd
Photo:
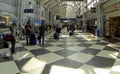
[[[111,37],[120,38],[120,2],[106,7],[105,15],[107,21],[105,24],[105,33],[109,34]]]

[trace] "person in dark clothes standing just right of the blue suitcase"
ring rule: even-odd
[[[42,22],[41,26],[39,27],[39,43],[40,45],[44,45],[44,36],[45,36],[45,25],[44,22]]]

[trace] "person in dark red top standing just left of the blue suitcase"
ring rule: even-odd
[[[27,22],[27,24],[25,25],[25,31],[26,31],[26,43],[27,45],[31,45],[30,44],[30,35],[31,35],[31,25],[30,25],[30,21]]]

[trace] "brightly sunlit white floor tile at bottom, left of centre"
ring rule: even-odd
[[[45,65],[44,61],[33,57],[22,67],[22,71],[26,74],[42,74]]]

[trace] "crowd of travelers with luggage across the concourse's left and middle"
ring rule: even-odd
[[[46,33],[53,33],[53,39],[55,41],[59,41],[61,30],[65,26],[60,26],[60,23],[56,25],[46,25],[45,21],[43,20],[41,24],[38,26],[37,30],[34,30],[34,26],[31,24],[30,20],[26,22],[26,24],[22,25],[21,28],[17,28],[16,23],[12,23],[9,26],[10,34],[4,36],[4,46],[6,48],[9,47],[7,42],[11,42],[11,54],[15,53],[15,44],[16,40],[19,39],[26,39],[26,45],[36,45],[37,41],[40,46],[44,46],[45,36]],[[74,24],[66,26],[69,35],[74,35],[75,26]]]

